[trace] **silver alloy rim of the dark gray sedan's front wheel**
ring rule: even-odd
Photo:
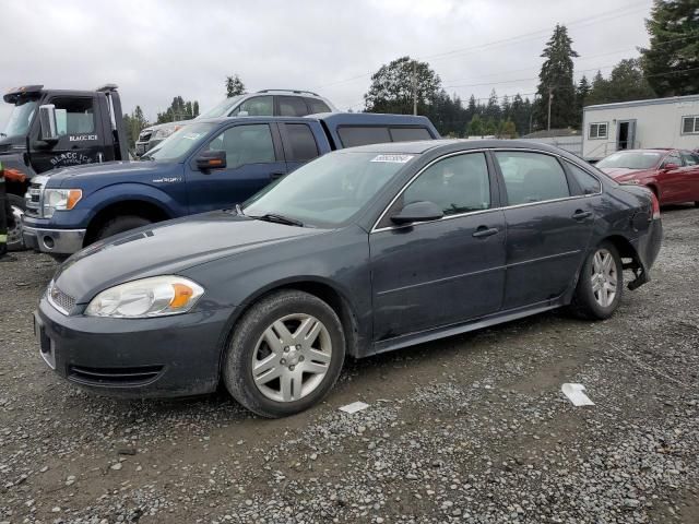
[[[252,353],[252,380],[276,402],[294,402],[313,392],[328,373],[332,342],[328,329],[305,313],[269,325]]]

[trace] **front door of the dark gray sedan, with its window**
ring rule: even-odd
[[[375,338],[384,341],[500,309],[505,215],[484,152],[442,157],[402,191],[369,235]],[[390,217],[429,201],[441,219],[395,226]]]

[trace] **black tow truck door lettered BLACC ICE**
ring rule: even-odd
[[[32,163],[36,169],[45,171],[99,162],[105,139],[97,126],[95,98],[52,97],[46,104],[56,107],[58,141],[36,147],[36,152],[32,154]]]

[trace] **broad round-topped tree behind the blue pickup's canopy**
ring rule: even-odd
[[[441,80],[427,62],[401,57],[371,76],[371,85],[364,95],[367,112],[413,112],[413,71],[416,74],[417,112],[425,115],[428,106],[440,96]]]

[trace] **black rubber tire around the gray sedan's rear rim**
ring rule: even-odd
[[[592,277],[594,274],[593,264],[594,257],[597,252],[606,250],[611,253],[616,269],[616,294],[608,306],[603,306],[597,301],[595,291],[593,290]],[[570,303],[570,310],[579,318],[589,320],[605,320],[614,314],[619,302],[621,295],[624,294],[624,270],[621,264],[621,258],[616,247],[608,241],[603,241],[596,248],[594,248],[580,270],[578,277],[578,285],[576,286],[576,293]]]

